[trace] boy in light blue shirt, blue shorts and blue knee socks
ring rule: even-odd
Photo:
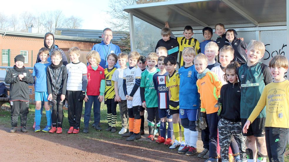
[[[51,129],[51,110],[49,108],[47,84],[46,84],[46,70],[50,63],[47,61],[49,57],[49,50],[46,47],[42,47],[38,52],[41,62],[36,63],[33,69],[34,88],[35,88],[35,129],[34,132],[40,131],[41,121],[41,101],[44,101],[44,107],[46,110],[47,125],[43,132],[48,132]],[[36,79],[36,81],[35,81]]]

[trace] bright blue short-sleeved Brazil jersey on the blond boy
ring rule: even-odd
[[[198,109],[200,95],[197,88],[198,72],[196,71],[195,66],[183,66],[178,72],[180,75],[180,108]]]

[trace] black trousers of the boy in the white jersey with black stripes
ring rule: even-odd
[[[82,91],[66,91],[68,103],[68,122],[74,129],[80,127],[83,100],[78,100]]]

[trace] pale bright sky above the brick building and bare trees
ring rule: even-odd
[[[75,16],[82,18],[81,29],[103,30],[110,27],[106,22],[110,18],[106,13],[110,9],[108,0],[51,0],[48,1],[49,4],[43,2],[42,0],[5,0],[1,1],[0,12],[10,16],[12,14],[20,15],[23,11],[36,14],[62,10],[66,17]]]

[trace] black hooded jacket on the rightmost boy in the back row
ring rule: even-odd
[[[232,30],[234,33],[234,39],[231,43],[226,39],[225,45],[229,45],[234,49],[234,60],[233,61],[237,61],[240,64],[247,63],[247,55],[245,52],[247,44],[244,41],[237,39],[238,34],[237,34],[236,30],[234,30],[234,29],[232,29]]]

